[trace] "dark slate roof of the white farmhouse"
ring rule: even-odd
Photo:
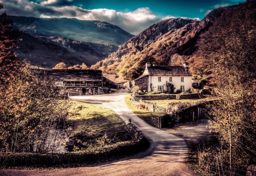
[[[147,70],[150,76],[192,76],[183,66],[151,66]]]

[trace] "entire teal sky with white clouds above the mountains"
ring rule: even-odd
[[[138,35],[170,18],[201,20],[218,7],[245,0],[0,0],[8,15],[100,20]]]

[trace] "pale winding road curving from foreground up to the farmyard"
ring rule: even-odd
[[[126,123],[141,129],[150,140],[150,148],[129,158],[107,162],[97,166],[43,170],[2,170],[4,175],[196,175],[186,163],[188,147],[184,139],[154,128],[127,108],[127,91],[110,95],[73,96],[72,99],[99,104],[115,111]]]

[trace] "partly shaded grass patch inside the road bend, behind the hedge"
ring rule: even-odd
[[[113,110],[99,105],[71,101],[67,121],[71,128],[69,151],[113,147],[129,143],[124,122]]]

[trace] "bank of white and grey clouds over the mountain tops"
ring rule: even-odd
[[[3,0],[7,14],[17,16],[35,16],[40,18],[77,18],[80,20],[100,20],[125,29],[134,35],[142,32],[154,23],[175,16],[156,16],[148,7],[134,11],[115,11],[108,8],[87,10],[77,6],[61,5],[73,0],[47,0],[40,3],[28,0]],[[185,17],[184,17],[185,18]],[[199,18],[194,18],[199,20]]]

